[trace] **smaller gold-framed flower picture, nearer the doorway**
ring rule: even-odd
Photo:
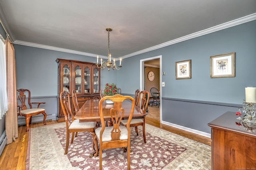
[[[191,78],[191,60],[179,61],[176,65],[176,79]]]

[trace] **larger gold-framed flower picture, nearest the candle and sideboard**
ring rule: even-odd
[[[210,56],[211,78],[235,76],[235,53]]]

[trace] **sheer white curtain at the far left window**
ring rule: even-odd
[[[6,53],[4,42],[0,40],[0,119],[8,111]]]

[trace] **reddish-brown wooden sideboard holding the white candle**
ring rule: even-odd
[[[236,118],[236,112],[228,111],[208,123],[212,128],[212,170],[256,170],[256,129]]]

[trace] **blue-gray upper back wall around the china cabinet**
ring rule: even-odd
[[[17,89],[29,89],[31,96],[58,95],[58,64],[56,59],[70,59],[96,63],[95,57],[52,51],[14,44]],[[116,72],[101,71],[101,86],[116,82]]]

